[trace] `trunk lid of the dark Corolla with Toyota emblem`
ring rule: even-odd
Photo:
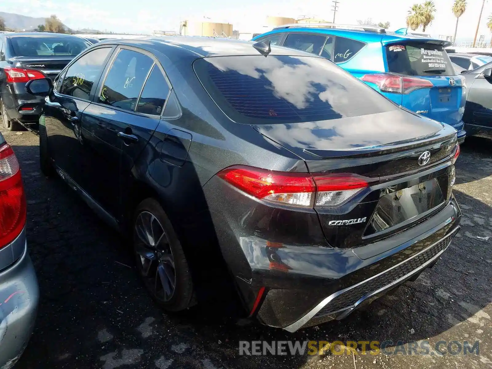
[[[363,246],[431,216],[451,196],[456,130],[403,110],[323,122],[255,125],[310,173],[355,173],[368,187],[315,207],[328,243]],[[428,152],[430,157],[422,155]],[[424,163],[425,161],[425,163]]]

